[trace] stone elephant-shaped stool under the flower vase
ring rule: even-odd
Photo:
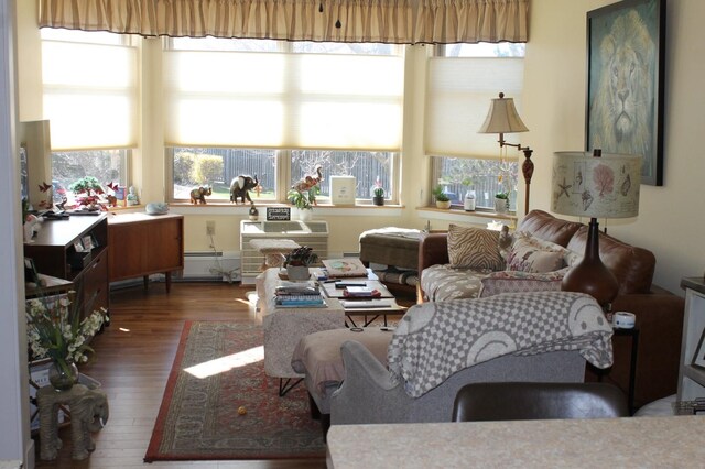
[[[96,449],[91,432],[98,432],[108,419],[108,396],[99,390],[85,384],[74,384],[68,391],[56,391],[52,386],[41,388],[36,392],[40,410],[40,457],[44,460],[56,459],[62,440],[58,439],[58,407],[67,405],[70,410],[70,435],[73,439],[72,458],[86,459]]]

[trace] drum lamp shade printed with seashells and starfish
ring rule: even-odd
[[[552,210],[590,218],[639,215],[641,156],[556,152],[553,157]]]

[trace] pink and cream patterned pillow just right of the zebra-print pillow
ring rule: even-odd
[[[553,272],[565,266],[570,251],[558,244],[518,232],[507,255],[507,270]]]

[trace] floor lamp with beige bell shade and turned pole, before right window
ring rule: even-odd
[[[533,176],[533,162],[531,161],[531,150],[529,146],[521,146],[520,143],[508,143],[505,141],[505,133],[527,132],[529,129],[522,122],[514,107],[512,98],[505,98],[505,94],[500,92],[499,98],[492,99],[489,106],[489,112],[485,118],[485,123],[478,131],[479,133],[499,133],[499,148],[516,146],[517,150],[523,151],[525,160],[521,165],[521,172],[524,176],[527,187],[524,197],[524,214],[529,212],[529,186],[531,185],[531,176]]]

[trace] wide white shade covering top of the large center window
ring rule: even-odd
[[[167,51],[174,146],[401,148],[400,56]]]

